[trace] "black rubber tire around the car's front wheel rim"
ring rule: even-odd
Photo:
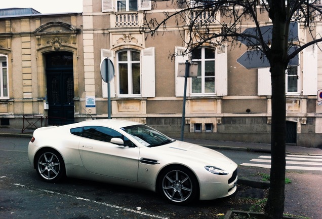
[[[165,178],[165,176],[171,172],[171,171],[174,171],[174,170],[178,170],[178,171],[181,171],[181,172],[184,172],[188,177],[189,179],[191,180],[191,184],[192,184],[192,193],[191,195],[189,196],[188,199],[184,200],[184,201],[181,201],[181,202],[175,202],[175,201],[172,201],[168,198],[168,196],[164,193],[163,191],[163,179]],[[197,201],[198,200],[198,196],[199,196],[199,184],[198,184],[198,180],[196,178],[196,176],[194,175],[194,173],[184,167],[184,166],[171,166],[171,167],[167,167],[165,168],[159,175],[158,177],[158,182],[157,182],[157,192],[168,202],[172,203],[172,204],[176,204],[176,205],[187,205],[189,203],[192,203],[194,201]]]

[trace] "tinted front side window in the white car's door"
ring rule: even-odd
[[[111,142],[111,139],[121,138],[124,141],[124,144],[129,147],[134,147],[134,143],[129,140],[126,136],[123,134],[102,126],[86,126],[84,127],[83,131],[83,137],[99,140],[99,141],[105,141],[105,142]]]

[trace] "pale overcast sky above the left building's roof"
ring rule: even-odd
[[[83,0],[1,0],[0,8],[33,8],[42,14],[82,12]]]

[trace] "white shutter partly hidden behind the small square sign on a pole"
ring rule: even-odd
[[[188,55],[181,55],[185,52],[186,48],[176,47],[175,50],[175,76],[176,76],[176,97],[183,97],[184,92],[184,77],[178,77],[179,63],[185,63],[188,60]],[[189,95],[189,86],[187,86],[186,96]]]

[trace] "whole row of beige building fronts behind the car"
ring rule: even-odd
[[[0,58],[6,72],[1,126],[26,127],[27,121],[36,124],[37,117],[43,125],[107,118],[108,86],[100,72],[107,57],[115,69],[111,118],[146,123],[179,137],[184,78],[178,77],[178,66],[190,57],[199,70],[187,80],[184,136],[269,143],[268,68],[246,69],[237,63],[247,50],[244,45],[209,44],[189,57],[180,55],[188,40],[184,23],[170,22],[153,37],[142,32],[144,15],[162,18],[174,10],[168,3],[152,5],[148,0],[84,0],[83,14],[0,17]],[[220,31],[220,19],[209,19],[214,30]],[[248,27],[253,23],[245,22]],[[314,34],[321,28],[317,23]],[[301,30],[299,24],[299,40],[305,43],[309,35]],[[299,65],[286,72],[287,143],[322,144],[322,106],[316,95],[322,89],[321,54],[316,45],[305,49]]]

